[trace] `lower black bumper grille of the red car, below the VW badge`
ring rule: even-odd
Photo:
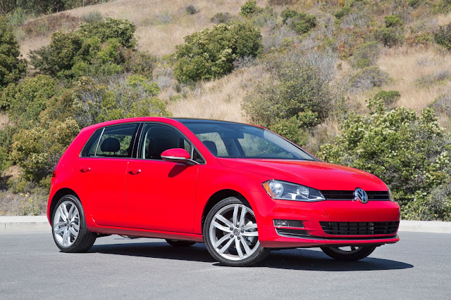
[[[319,222],[328,235],[393,235],[399,221],[392,222]]]

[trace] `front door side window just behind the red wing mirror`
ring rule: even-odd
[[[177,130],[161,124],[144,124],[141,131],[138,158],[161,159],[161,153],[172,148],[191,152],[190,143]]]

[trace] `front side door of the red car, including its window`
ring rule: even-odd
[[[125,199],[130,228],[192,233],[197,172],[200,165],[165,162],[161,152],[194,148],[178,129],[144,124],[137,159],[128,164]]]

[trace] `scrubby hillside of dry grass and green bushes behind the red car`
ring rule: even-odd
[[[39,18],[28,15],[16,23],[9,18],[20,53],[29,60],[27,76],[16,82],[16,89],[10,85],[0,90],[4,101],[0,141],[8,152],[4,165],[12,164],[2,177],[2,197],[9,202],[22,202],[25,194],[20,193],[34,193],[44,201],[51,164],[82,126],[149,112],[267,126],[322,159],[370,171],[395,186],[395,195],[405,204],[404,218],[451,218],[451,206],[447,206],[451,191],[443,190],[451,182],[451,171],[443,163],[451,152],[451,4],[445,0],[116,0]],[[115,28],[108,33],[112,36],[104,38],[101,34],[109,31],[101,27],[104,22],[132,36],[116,35],[111,41]],[[217,67],[218,62],[207,61],[215,66],[203,65],[210,70],[189,65],[202,47],[211,53],[196,54],[199,59],[212,60],[217,55],[214,51],[220,52],[209,43],[215,43],[221,32],[208,34],[221,26],[230,30],[228,24],[241,24],[244,32],[257,30],[258,49],[223,58],[230,65]],[[59,31],[66,35],[58,36]],[[186,37],[191,38],[194,46],[187,48],[192,46],[193,53],[178,47]],[[250,36],[244,41],[227,35],[218,39],[218,43],[226,39],[232,44],[252,43]],[[69,51],[70,45],[79,48],[67,66],[67,53],[58,52],[58,47]],[[197,77],[180,75],[188,69],[190,76],[195,71]],[[218,73],[209,74],[211,69]],[[27,109],[14,102],[36,104],[23,95],[27,91],[23,82],[33,84],[36,93],[44,91],[34,115],[24,115],[21,110]],[[126,108],[119,99],[123,95],[129,101]],[[116,103],[106,105],[108,97]],[[133,103],[144,103],[144,107]],[[94,117],[89,115],[92,118],[87,121],[74,107],[84,107]],[[434,125],[435,117],[425,110],[428,107],[435,110],[441,127]],[[25,121],[11,122],[13,118]],[[67,141],[55,147],[51,138],[39,138],[51,131],[52,120],[70,131],[64,137]],[[424,127],[425,123],[432,127]],[[27,145],[32,152],[23,150],[26,138],[20,130],[35,134],[33,141],[39,146]],[[362,131],[364,135],[359,134]],[[393,136],[373,149],[364,147],[365,138],[388,131]],[[8,134],[9,138],[3,138]],[[354,137],[361,140],[351,145]],[[425,143],[407,145],[403,138]],[[418,155],[411,154],[409,159],[398,154],[407,153],[407,148]],[[42,155],[49,151],[51,159]],[[385,152],[386,157],[378,155]],[[40,160],[31,164],[33,154]],[[415,185],[405,188],[411,178]],[[431,199],[416,194],[421,189],[443,193],[445,202],[427,214],[415,212],[415,205],[431,205]],[[6,211],[20,214],[25,209],[14,210],[14,205],[8,204]]]

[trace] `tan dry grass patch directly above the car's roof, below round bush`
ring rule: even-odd
[[[245,122],[241,101],[257,81],[265,77],[260,66],[236,70],[226,77],[199,84],[187,97],[169,103],[175,117],[222,119]]]

